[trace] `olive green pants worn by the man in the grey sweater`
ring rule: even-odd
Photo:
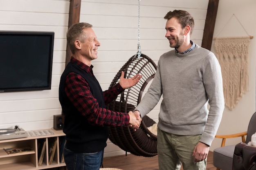
[[[195,162],[193,150],[201,135],[173,135],[157,129],[159,170],[206,170],[207,159]]]

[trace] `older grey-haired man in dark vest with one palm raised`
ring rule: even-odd
[[[67,44],[72,52],[60,81],[59,100],[65,115],[66,134],[64,159],[68,170],[99,170],[108,139],[108,126],[130,126],[135,131],[141,118],[135,114],[105,109],[124,89],[139,82],[139,74],[124,78],[102,92],[95,78],[91,61],[97,59],[101,45],[88,23],[77,23],[67,31]]]

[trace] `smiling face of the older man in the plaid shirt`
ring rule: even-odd
[[[99,41],[97,40],[97,36],[95,35],[92,28],[85,28],[83,30],[83,33],[86,36],[85,36],[84,42],[80,42],[81,43],[81,49],[80,49],[81,55],[83,57],[85,57],[85,59],[87,59],[88,61],[97,59],[98,58],[98,56],[97,56],[98,46],[101,45],[99,43]]]

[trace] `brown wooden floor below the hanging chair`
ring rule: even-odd
[[[122,170],[158,170],[158,160],[155,157],[141,157],[132,154],[103,158],[103,168],[119,168]],[[216,170],[213,166],[213,152],[207,158],[207,170]],[[183,168],[181,168],[183,170]]]

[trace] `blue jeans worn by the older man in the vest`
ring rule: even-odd
[[[64,147],[64,159],[68,170],[99,170],[104,150],[96,153],[74,153]]]

